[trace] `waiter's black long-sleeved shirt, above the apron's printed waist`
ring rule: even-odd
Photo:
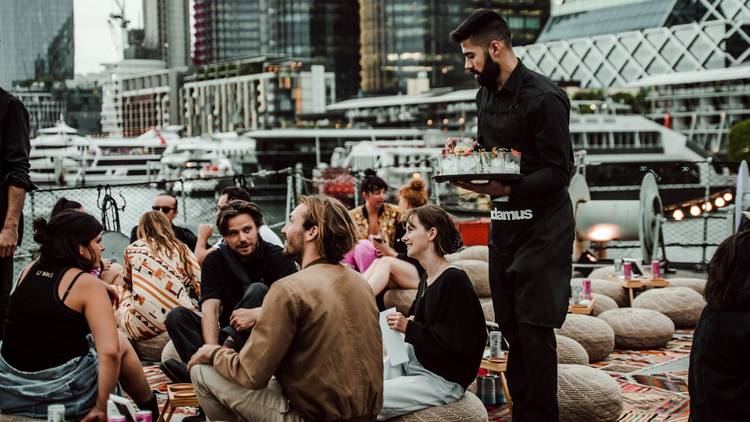
[[[515,149],[521,155],[514,197],[544,197],[564,191],[573,173],[570,100],[548,78],[518,66],[495,92],[479,89],[477,141],[487,150]]]

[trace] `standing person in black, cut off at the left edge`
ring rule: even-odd
[[[0,88],[0,340],[13,282],[13,254],[21,244],[23,201],[29,179],[29,113]]]

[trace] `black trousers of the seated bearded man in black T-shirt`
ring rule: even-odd
[[[266,293],[268,293],[268,286],[263,283],[253,283],[245,290],[245,294],[234,309],[257,308],[263,305]],[[195,352],[205,344],[201,332],[201,317],[190,309],[182,306],[172,309],[167,314],[164,325],[167,327],[169,338],[172,339],[177,354],[185,363],[190,361]],[[235,340],[237,351],[239,351],[250,337],[251,331],[238,332],[229,326],[222,327],[219,332],[219,342],[222,343],[227,337],[231,336]]]

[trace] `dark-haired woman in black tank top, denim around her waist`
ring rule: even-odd
[[[117,381],[143,409],[158,414],[133,347],[117,331],[101,262],[102,225],[63,211],[34,221],[39,259],[21,271],[0,346],[0,410],[45,417],[65,405],[66,419],[107,420]],[[93,339],[92,339],[93,337]]]

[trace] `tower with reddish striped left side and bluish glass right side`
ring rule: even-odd
[[[194,0],[196,66],[259,56],[265,44],[264,0]]]

